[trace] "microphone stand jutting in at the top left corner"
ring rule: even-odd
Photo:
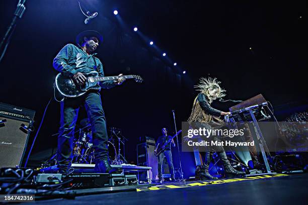
[[[5,36],[3,37],[3,39],[0,43],[0,49],[2,50],[1,55],[0,55],[0,62],[1,62],[4,54],[6,53],[8,46],[9,46],[12,34],[15,30],[17,17],[19,17],[19,19],[21,19],[23,14],[26,11],[26,7],[24,5],[25,2],[26,2],[26,0],[19,0],[19,2],[17,4],[17,8],[16,8],[15,13],[14,13],[14,17],[12,19],[12,22],[11,22],[7,32],[5,33]],[[4,48],[2,49],[2,47],[4,47]]]

